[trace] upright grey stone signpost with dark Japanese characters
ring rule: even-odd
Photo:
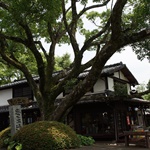
[[[21,105],[13,105],[9,107],[11,135],[14,135],[22,126]]]

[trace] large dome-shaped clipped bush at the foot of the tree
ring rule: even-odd
[[[77,134],[67,125],[40,121],[22,127],[13,137],[22,150],[57,150],[80,146]]]

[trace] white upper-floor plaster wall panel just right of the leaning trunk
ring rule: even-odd
[[[105,81],[102,79],[98,79],[93,87],[94,93],[104,91],[105,89]]]

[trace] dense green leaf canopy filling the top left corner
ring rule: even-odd
[[[5,33],[20,36],[22,39],[25,39],[26,35],[20,24],[28,25],[34,38],[39,39],[48,35],[47,22],[55,24],[61,13],[60,0],[5,0],[5,3],[9,6],[9,11],[0,9],[0,28],[4,29]]]

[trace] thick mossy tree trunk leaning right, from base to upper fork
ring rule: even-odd
[[[66,110],[74,106],[80,98],[93,87],[99,78],[105,63],[118,50],[118,48],[119,42],[114,42],[113,44],[109,42],[106,46],[104,46],[102,51],[97,55],[88,76],[80,82],[78,86],[76,86],[55,109],[52,116],[54,120],[60,120],[65,115]]]

